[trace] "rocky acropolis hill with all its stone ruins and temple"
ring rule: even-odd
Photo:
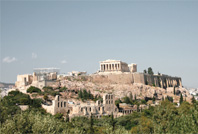
[[[67,113],[70,111],[70,117],[87,115],[94,113],[97,117],[114,112],[115,116],[131,113],[137,110],[137,106],[130,106],[122,109],[116,109],[115,100],[132,95],[136,99],[145,99],[155,97],[155,103],[167,96],[172,97],[175,103],[179,103],[180,94],[186,101],[191,101],[191,95],[182,87],[180,77],[172,77],[164,74],[148,74],[137,72],[137,64],[128,65],[120,60],[106,60],[100,62],[100,70],[94,74],[87,75],[86,72],[70,72],[69,75],[61,75],[57,69],[35,69],[33,75],[18,75],[16,88],[23,93],[27,93],[30,86],[43,89],[44,87],[53,87],[54,90],[61,87],[67,91],[60,92],[61,98],[49,96],[53,100],[51,106],[43,105],[43,108],[52,114],[57,112]],[[77,100],[79,91],[90,91],[94,96],[103,96],[103,103],[96,102],[85,104]],[[174,94],[174,89],[176,94]],[[108,98],[110,96],[110,98]],[[33,96],[32,96],[33,97]],[[37,96],[42,98],[42,96]],[[61,100],[61,107],[59,101]],[[105,101],[105,102],[104,102]],[[72,102],[70,104],[69,102]],[[62,107],[64,103],[64,107]],[[68,104],[68,105],[67,105]],[[91,107],[91,108],[90,108]],[[141,105],[146,108],[147,105]],[[90,110],[87,109],[95,109]],[[113,108],[113,111],[108,109]],[[103,111],[98,111],[103,109]],[[85,110],[85,111],[83,111]],[[87,113],[88,112],[88,113]]]

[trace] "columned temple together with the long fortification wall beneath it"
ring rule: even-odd
[[[172,77],[164,74],[150,75],[140,73],[137,72],[137,64],[128,65],[120,60],[106,60],[100,62],[99,73],[91,77],[91,81],[99,83],[141,83],[161,88],[182,86],[180,77]]]

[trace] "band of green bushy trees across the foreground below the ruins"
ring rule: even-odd
[[[17,96],[18,93],[13,92],[8,97],[18,98]],[[11,103],[14,98],[6,97],[0,102],[0,133],[158,134],[198,132],[197,102],[189,104],[183,101],[180,107],[176,107],[165,99],[159,106],[119,118],[113,118],[113,116],[104,116],[101,119],[75,117],[68,122],[68,120],[63,120],[62,115],[52,116],[43,112],[41,108],[30,108],[22,112],[15,105],[16,102]],[[10,103],[12,105],[8,105]],[[7,116],[2,120],[5,113]]]

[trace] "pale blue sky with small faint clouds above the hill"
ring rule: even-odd
[[[35,67],[94,73],[117,59],[198,87],[198,1],[1,1],[0,58],[3,82]]]

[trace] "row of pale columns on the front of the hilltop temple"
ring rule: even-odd
[[[120,71],[121,70],[121,64],[118,63],[112,63],[112,64],[100,64],[100,70],[101,72],[104,71]]]

